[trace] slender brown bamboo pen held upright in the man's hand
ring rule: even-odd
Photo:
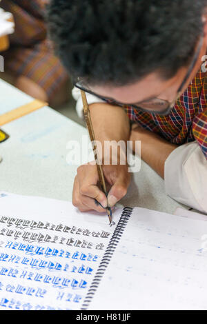
[[[86,99],[86,93],[83,90],[81,90],[81,97],[82,97],[82,101],[83,101],[83,114],[84,114],[84,117],[86,119],[86,125],[87,125],[87,128],[88,128],[90,141],[92,141],[92,143],[93,143],[92,149],[93,149],[93,152],[94,152],[94,155],[95,155],[95,161],[96,161],[96,165],[97,165],[97,172],[99,174],[99,182],[101,184],[101,189],[103,190],[104,194],[106,194],[106,196],[107,196],[106,182],[105,182],[105,179],[104,179],[104,176],[103,176],[103,170],[102,170],[101,163],[100,163],[101,161],[99,160],[99,155],[98,155],[98,152],[97,152],[97,145],[95,144],[95,133],[94,133],[94,130],[93,130],[93,127],[92,127],[92,121],[91,121],[91,118],[90,118],[90,110],[89,110],[88,102],[87,102],[87,99]],[[109,222],[111,224],[112,223],[112,211],[111,211],[111,208],[107,207],[106,210],[107,210]]]

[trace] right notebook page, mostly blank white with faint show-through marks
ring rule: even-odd
[[[206,234],[206,221],[135,208],[88,309],[206,310]]]

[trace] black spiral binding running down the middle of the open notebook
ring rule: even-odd
[[[92,301],[92,298],[94,297],[94,295],[99,287],[99,283],[103,277],[103,274],[106,271],[108,264],[110,263],[110,259],[112,258],[112,255],[115,252],[117,244],[119,243],[119,240],[121,239],[121,235],[124,233],[125,227],[127,225],[128,220],[130,219],[131,214],[132,214],[132,208],[124,207],[124,210],[121,214],[121,218],[119,219],[119,223],[117,224],[117,227],[115,228],[115,232],[112,234],[112,238],[110,239],[110,242],[108,243],[106,252],[103,254],[101,263],[99,264],[99,267],[97,269],[95,277],[92,280],[92,283],[90,285],[88,293],[83,301],[81,310],[88,309],[88,306],[89,306],[90,302]]]

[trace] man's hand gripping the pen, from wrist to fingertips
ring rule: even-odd
[[[77,170],[72,193],[72,203],[81,212],[96,210],[106,212],[104,208],[113,207],[117,201],[126,195],[130,184],[128,165],[102,165],[108,187],[108,198],[98,186],[99,176],[97,166],[88,163]],[[103,206],[97,205],[95,199]]]

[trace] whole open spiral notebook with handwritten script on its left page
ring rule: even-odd
[[[0,192],[0,310],[206,310],[206,219]]]

